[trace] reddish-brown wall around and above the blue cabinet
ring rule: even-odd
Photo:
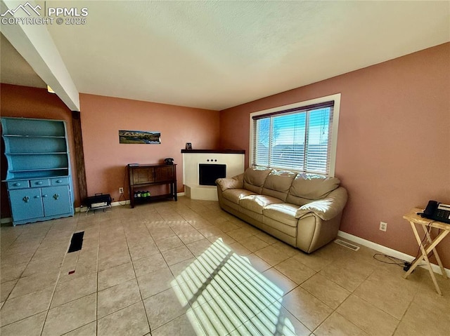
[[[74,142],[72,135],[72,112],[58,98],[57,95],[47,92],[44,88],[29,88],[27,86],[15,86],[1,84],[0,86],[0,112],[1,116],[15,116],[23,118],[56,119],[66,121],[68,130],[69,150],[74,152]],[[3,155],[4,147],[2,143],[1,156],[1,179],[6,177],[6,158]],[[77,173],[74,170],[75,157],[70,156],[72,165],[72,180],[74,186],[75,206],[79,206],[79,196],[77,188]],[[8,203],[6,185],[1,183],[1,217],[11,217],[11,210]]]

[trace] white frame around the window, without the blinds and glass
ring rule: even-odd
[[[283,106],[278,106],[278,107],[274,107],[271,109],[264,109],[262,111],[257,111],[257,112],[252,112],[250,113],[250,147],[249,147],[249,163],[250,166],[253,166],[253,162],[252,162],[252,158],[253,158],[253,152],[255,152],[255,134],[254,134],[254,122],[255,120],[253,119],[254,116],[261,116],[264,114],[274,114],[274,113],[278,113],[278,112],[282,112],[286,111],[286,113],[291,113],[288,112],[287,110],[290,109],[301,109],[302,107],[307,107],[309,105],[316,105],[316,104],[323,104],[326,102],[334,102],[334,107],[333,107],[333,125],[331,128],[331,144],[330,144],[330,166],[329,166],[329,171],[328,174],[323,174],[326,175],[328,177],[334,177],[335,176],[335,164],[336,164],[336,151],[338,148],[338,128],[339,128],[339,114],[340,114],[340,98],[341,98],[341,94],[340,93],[335,93],[334,95],[327,95],[325,97],[320,97],[320,98],[315,98],[315,99],[311,99],[311,100],[305,100],[303,102],[295,102],[293,104],[290,105],[283,105]],[[287,170],[292,170],[292,169],[288,169]],[[318,175],[321,175],[318,173]]]

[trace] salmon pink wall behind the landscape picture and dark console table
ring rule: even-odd
[[[184,191],[181,149],[218,149],[219,112],[191,107],[80,94],[84,161],[88,195],[110,194],[119,188],[128,197],[128,163],[162,163],[174,158],[178,191]],[[161,133],[160,145],[119,143],[119,130]],[[151,190],[150,190],[151,191]]]

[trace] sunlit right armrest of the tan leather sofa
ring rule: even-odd
[[[295,213],[296,218],[300,218],[307,213],[314,213],[322,220],[331,220],[339,215],[347,203],[347,190],[344,187],[338,187],[326,196],[325,199],[318,199],[301,206]]]

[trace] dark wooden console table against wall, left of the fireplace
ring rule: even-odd
[[[169,184],[169,194],[152,195],[140,200],[152,201],[157,199],[174,199],[176,198],[176,164],[151,164],[151,165],[128,165],[129,176],[129,201],[131,208],[134,208],[135,190],[142,190],[143,187],[153,185]]]

